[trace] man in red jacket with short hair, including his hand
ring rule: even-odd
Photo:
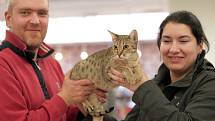
[[[53,49],[43,42],[48,18],[48,0],[9,0],[9,30],[0,51],[0,121],[75,121],[75,105],[95,90],[89,80],[63,81]]]

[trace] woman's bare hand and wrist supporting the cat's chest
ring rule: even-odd
[[[110,72],[108,73],[108,75],[113,79],[112,82],[114,84],[116,84],[117,86],[126,87],[126,88],[130,89],[131,91],[135,91],[141,84],[143,84],[144,82],[146,82],[148,80],[148,76],[145,73],[143,73],[143,77],[138,83],[129,84],[127,81],[125,81],[123,74],[114,68],[110,69]]]

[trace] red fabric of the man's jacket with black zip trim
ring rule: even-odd
[[[22,51],[26,45],[13,33],[6,31],[6,41]],[[28,61],[5,48],[0,51],[0,121],[70,121],[76,120],[78,108],[68,108],[58,93],[64,74],[59,63],[50,56],[51,50],[45,43],[38,55],[48,93],[51,97],[45,100],[38,77]],[[68,110],[70,109],[70,110]],[[69,116],[66,116],[69,112]]]

